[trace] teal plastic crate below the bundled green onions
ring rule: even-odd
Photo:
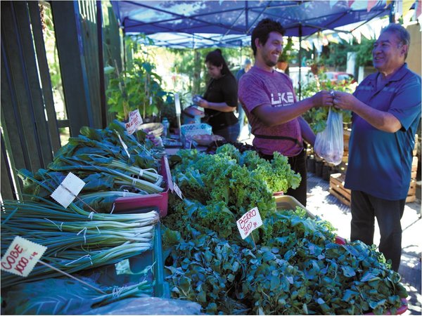
[[[138,210],[143,213],[143,210]],[[131,213],[136,212],[132,210]],[[146,280],[153,283],[153,293],[155,297],[170,298],[170,287],[164,279],[164,263],[162,260],[161,246],[161,228],[160,223],[155,225],[153,248],[143,251],[141,254],[132,256],[129,260],[130,270],[133,273],[141,272],[148,266],[152,269],[148,270]],[[84,276],[95,279],[98,284],[107,287],[124,287],[127,285],[138,284],[145,279],[145,275],[136,274],[120,274],[117,275],[115,265],[104,265],[102,267],[89,270]]]

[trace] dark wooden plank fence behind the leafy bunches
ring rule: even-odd
[[[1,1],[1,199],[17,199],[22,191],[16,170],[37,172],[51,162],[61,146],[59,127],[77,136],[82,126],[101,129],[113,118],[103,80],[109,60],[122,65],[113,11],[98,27],[101,1],[49,2],[68,117],[58,121],[40,3]]]

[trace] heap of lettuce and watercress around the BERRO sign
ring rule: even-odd
[[[303,209],[276,209],[272,192],[299,180],[284,158],[231,145],[179,152],[172,175],[185,199],[162,220],[172,297],[210,315],[395,313],[407,292],[381,253],[335,244],[331,225]],[[236,220],[255,206],[263,225],[242,239]]]

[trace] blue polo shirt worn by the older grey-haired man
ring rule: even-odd
[[[354,96],[376,110],[391,113],[402,128],[395,133],[380,131],[353,114],[345,187],[381,199],[405,199],[415,133],[421,119],[421,77],[404,64],[376,89],[378,74],[366,77]]]

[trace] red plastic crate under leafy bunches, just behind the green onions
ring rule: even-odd
[[[119,197],[115,200],[114,212],[121,213],[122,211],[156,206],[158,207],[160,216],[166,216],[169,204],[169,190],[173,191],[172,175],[170,173],[170,166],[166,156],[161,159],[160,174],[164,178],[165,182],[164,192],[151,195],[139,195],[139,197]]]

